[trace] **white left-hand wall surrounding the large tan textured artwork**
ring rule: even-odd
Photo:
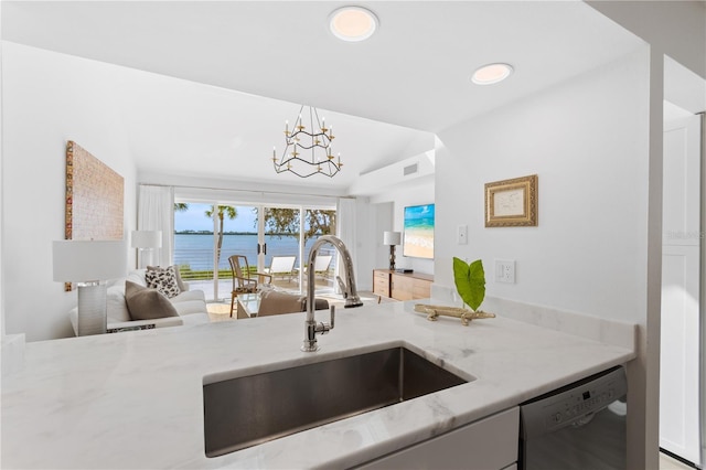
[[[111,93],[119,67],[7,42],[2,61],[6,328],[28,341],[68,337],[76,292],[52,280],[51,246],[64,238],[67,140],[125,178],[125,232],[135,227],[135,163]]]

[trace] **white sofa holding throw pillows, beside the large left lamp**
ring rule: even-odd
[[[139,286],[147,287],[145,273],[146,269],[136,269],[130,271],[127,278],[108,282],[107,317],[109,333],[126,330],[178,327],[182,324],[208,322],[206,299],[203,291],[189,290],[189,285],[181,282],[181,279],[179,279],[179,285],[182,291],[178,296],[169,299],[171,305],[174,307],[174,310],[176,310],[176,317],[132,320],[125,298],[125,284],[126,281],[131,281]],[[77,308],[71,310],[69,318],[72,327],[74,328],[74,333],[78,334]]]

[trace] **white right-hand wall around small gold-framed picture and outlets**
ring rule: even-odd
[[[453,287],[453,256],[480,258],[488,296],[638,324],[629,468],[654,468],[657,452],[648,242],[649,195],[661,197],[650,170],[661,169],[652,168],[650,54],[644,47],[447,129],[439,133],[446,148],[437,150],[437,284]],[[484,183],[534,173],[538,226],[485,228]],[[461,224],[469,226],[468,245],[456,243]],[[516,260],[516,284],[493,281],[495,258]]]

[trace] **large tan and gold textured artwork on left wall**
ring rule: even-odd
[[[125,181],[76,142],[66,142],[66,239],[122,239]],[[65,290],[72,290],[65,284]]]

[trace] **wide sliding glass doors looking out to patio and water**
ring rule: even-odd
[[[244,205],[237,202],[178,201],[174,204],[174,264],[206,300],[231,298],[232,255],[247,257],[250,270],[268,273],[276,288],[306,292],[307,259],[314,241],[335,233],[335,210]],[[319,250],[317,291],[331,291],[336,256]]]

